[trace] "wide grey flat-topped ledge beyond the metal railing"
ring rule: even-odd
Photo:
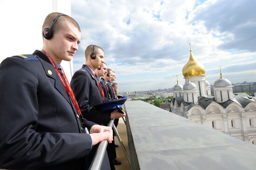
[[[125,106],[133,170],[255,170],[253,144],[143,101]]]

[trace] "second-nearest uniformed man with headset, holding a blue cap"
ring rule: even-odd
[[[85,64],[74,73],[70,82],[83,117],[97,124],[108,124],[110,119],[125,116],[117,109],[114,111],[99,111],[94,108],[94,105],[103,103],[105,98],[95,74],[95,69],[102,66],[103,58],[104,51],[100,46],[89,45],[85,50]],[[111,169],[115,170],[111,150],[107,149],[107,151]]]

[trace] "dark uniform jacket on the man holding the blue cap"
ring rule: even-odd
[[[71,87],[84,118],[97,124],[107,125],[110,111],[97,111],[94,105],[102,103],[101,92],[93,72],[88,65],[76,71],[71,79]]]

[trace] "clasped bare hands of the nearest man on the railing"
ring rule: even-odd
[[[90,136],[92,137],[93,145],[98,144],[103,140],[108,140],[108,143],[113,141],[113,131],[108,126],[101,126],[95,124],[90,129]]]

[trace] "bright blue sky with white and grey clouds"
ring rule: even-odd
[[[213,84],[256,81],[255,0],[71,0],[72,17],[81,26],[74,71],[85,63],[90,44],[105,51],[115,70],[119,92],[173,87],[176,74],[195,59]]]

